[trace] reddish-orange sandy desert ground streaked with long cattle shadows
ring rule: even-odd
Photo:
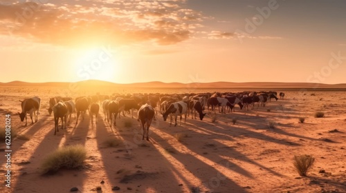
[[[158,114],[147,142],[141,140],[136,118],[127,115],[111,128],[102,111],[93,124],[86,116],[75,125],[73,116],[68,129],[54,136],[53,115],[46,110],[48,98],[55,96],[52,90],[0,87],[1,128],[10,112],[12,130],[30,136],[28,141],[12,139],[11,187],[1,183],[0,192],[69,192],[72,187],[79,192],[346,192],[346,92],[285,92],[284,100],[264,108],[217,112],[215,123],[208,114],[203,121],[188,117],[170,127]],[[42,99],[39,121],[24,126],[16,114],[18,100],[35,95]],[[325,117],[313,117],[316,111]],[[113,137],[122,143],[104,145]],[[41,174],[47,154],[73,144],[87,149],[83,168]],[[6,154],[4,141],[0,149]],[[298,154],[316,158],[306,177],[294,170],[292,159]],[[4,181],[6,158],[0,157]],[[120,190],[112,191],[114,186]]]

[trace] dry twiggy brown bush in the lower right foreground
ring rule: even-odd
[[[300,176],[307,176],[307,172],[311,169],[315,159],[311,155],[294,156],[293,165]]]

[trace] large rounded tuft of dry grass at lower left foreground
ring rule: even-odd
[[[54,173],[61,168],[75,169],[81,167],[86,159],[86,150],[82,145],[70,145],[59,148],[46,156],[42,162],[44,174]]]

